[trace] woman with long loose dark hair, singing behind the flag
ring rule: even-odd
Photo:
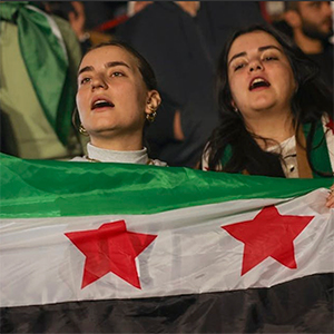
[[[333,177],[333,97],[317,68],[271,26],[238,30],[218,66],[220,125],[202,168],[287,178]]]

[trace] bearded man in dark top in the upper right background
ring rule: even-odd
[[[333,10],[330,1],[284,1],[284,20],[296,45],[314,60],[333,91]]]

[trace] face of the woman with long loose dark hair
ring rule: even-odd
[[[227,61],[232,104],[244,117],[263,110],[291,112],[296,84],[289,61],[272,35],[254,31],[239,36]]]

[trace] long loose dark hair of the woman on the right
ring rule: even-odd
[[[256,24],[236,31],[220,53],[216,82],[220,125],[213,131],[206,147],[209,170],[217,169],[222,157],[228,149],[230,157],[224,164],[223,171],[240,173],[246,169],[252,175],[284,177],[281,155],[263,150],[255,140],[255,138],[261,137],[246,129],[243,116],[240,112],[235,112],[232,106],[232,92],[227,75],[228,52],[237,37],[253,31],[265,31],[282,46],[298,87],[291,101],[294,126],[298,130],[303,124],[311,124],[311,130],[306,138],[308,164],[314,173],[327,176],[326,173],[316,170],[310,154],[316,124],[323,115],[333,114],[332,94],[320,78],[317,65],[305,56],[289,37],[269,24]],[[261,139],[271,140],[271,138]]]

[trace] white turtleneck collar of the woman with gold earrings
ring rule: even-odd
[[[166,163],[158,159],[149,159],[147,155],[147,148],[140,150],[111,150],[92,146],[87,144],[87,156],[75,157],[71,161],[100,161],[100,163],[122,163],[122,164],[139,164],[139,165],[154,165],[154,166],[167,166]]]

